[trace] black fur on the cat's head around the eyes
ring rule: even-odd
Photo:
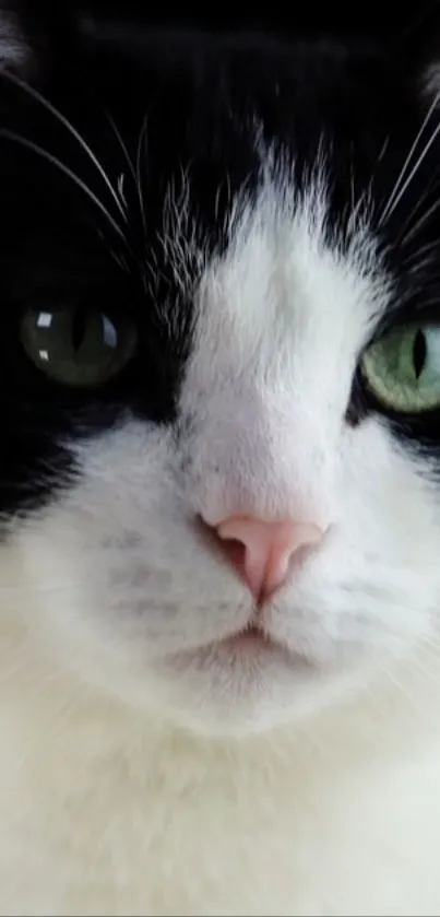
[[[39,502],[66,482],[74,469],[62,443],[79,430],[93,435],[127,411],[156,423],[174,421],[191,350],[200,262],[190,258],[185,279],[176,279],[163,244],[165,201],[170,188],[180,201],[188,192],[183,210],[194,220],[200,250],[205,257],[221,252],[233,201],[245,187],[252,193],[261,177],[259,131],[275,161],[295,163],[299,188],[325,143],[332,189],[328,232],[337,233],[343,244],[349,243],[353,175],[356,200],[370,189],[372,226],[395,278],[387,322],[402,309],[437,307],[440,139],[392,219],[381,226],[380,215],[429,106],[421,74],[435,54],[431,36],[440,35],[432,25],[438,4],[401,22],[399,34],[374,30],[372,7],[368,20],[357,23],[347,14],[323,16],[313,10],[309,16],[302,11],[296,24],[275,11],[271,21],[226,14],[203,21],[187,9],[185,21],[176,15],[167,25],[157,11],[140,22],[127,3],[122,13],[121,4],[110,9],[107,2],[78,7],[34,0],[14,4],[13,12],[32,50],[23,78],[81,133],[114,185],[126,173],[128,221],[119,235],[71,177],[14,139],[20,136],[58,158],[121,223],[80,142],[26,91],[20,67],[10,67],[0,83],[3,515]],[[134,163],[139,146],[145,226],[108,115]],[[433,115],[425,139],[438,125]],[[405,249],[402,227],[418,220],[420,199],[432,215]],[[418,257],[427,246],[429,258]],[[123,268],[116,260],[121,257]],[[100,389],[49,383],[25,355],[23,311],[44,303],[53,309],[66,297],[104,311],[122,309],[138,326],[134,358]],[[350,421],[377,409],[355,384]],[[433,448],[440,440],[437,412],[404,419],[399,428]]]

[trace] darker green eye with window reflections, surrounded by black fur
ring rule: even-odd
[[[134,355],[136,329],[121,316],[68,304],[31,308],[21,322],[24,350],[49,379],[72,388],[97,388]]]

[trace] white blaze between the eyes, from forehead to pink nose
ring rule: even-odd
[[[319,177],[302,198],[267,181],[202,280],[181,409],[212,519],[240,501],[308,516],[329,503],[353,375],[390,291],[366,221],[343,247],[326,215]]]

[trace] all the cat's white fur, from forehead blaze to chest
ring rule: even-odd
[[[287,188],[287,190],[286,190]],[[71,444],[0,550],[0,914],[440,912],[440,506],[345,420],[389,280],[266,180],[198,291],[176,428]],[[194,526],[326,530],[262,614]]]

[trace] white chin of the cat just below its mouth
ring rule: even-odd
[[[353,696],[362,668],[313,666],[293,651],[240,646],[237,638],[155,660],[118,684],[146,719],[200,736],[240,738],[305,721],[334,699]],[[115,689],[115,682],[109,689]]]

